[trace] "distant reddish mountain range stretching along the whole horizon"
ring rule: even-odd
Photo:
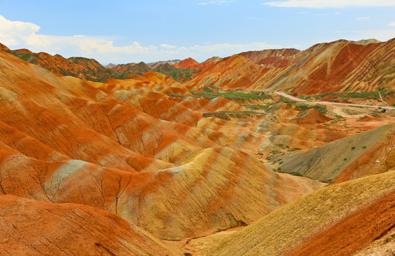
[[[284,90],[294,95],[325,92],[369,91],[395,87],[395,39],[379,42],[339,40],[318,43],[307,50],[256,50],[227,58],[213,57],[203,63],[192,58],[155,63],[109,64],[96,60],[68,58],[30,50],[3,50],[46,68],[56,75],[72,75],[85,80],[133,78],[135,74],[158,72],[189,86]],[[216,74],[215,76],[213,74]]]

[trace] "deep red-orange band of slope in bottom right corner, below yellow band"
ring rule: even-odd
[[[395,191],[340,218],[285,255],[353,255],[389,235],[394,221]]]

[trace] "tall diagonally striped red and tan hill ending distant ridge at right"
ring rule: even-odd
[[[296,95],[394,89],[395,39],[384,43],[320,43],[262,88]]]

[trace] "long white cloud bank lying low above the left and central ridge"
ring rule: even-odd
[[[82,56],[95,58],[101,63],[131,63],[141,60],[151,62],[171,58],[195,58],[205,60],[214,55],[226,57],[248,50],[280,48],[263,42],[253,43],[217,43],[202,46],[170,46],[162,43],[158,46],[142,46],[132,42],[128,46],[117,46],[115,39],[102,36],[50,36],[39,34],[40,27],[33,23],[9,21],[0,16],[0,43],[11,49],[28,48],[33,52],[60,54],[65,58]]]

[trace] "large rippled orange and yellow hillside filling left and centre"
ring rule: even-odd
[[[109,210],[177,240],[248,225],[325,186],[241,151],[266,136],[254,119],[203,114],[246,108],[173,97],[186,89],[166,75],[58,78],[4,51],[0,74],[1,193]]]

